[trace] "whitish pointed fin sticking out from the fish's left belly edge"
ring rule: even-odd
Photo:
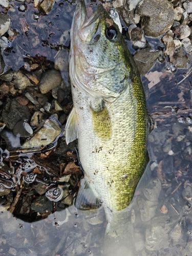
[[[78,139],[78,120],[75,108],[73,107],[66,123],[66,143]]]

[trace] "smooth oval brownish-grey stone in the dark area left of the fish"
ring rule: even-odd
[[[53,88],[60,85],[62,80],[61,74],[56,70],[48,70],[44,73],[40,81],[40,92],[45,94]]]

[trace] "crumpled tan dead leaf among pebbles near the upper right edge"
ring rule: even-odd
[[[174,34],[171,32],[167,32],[163,37],[162,40],[165,44],[164,53],[169,57],[170,62],[174,62],[174,53],[175,53],[175,43],[173,41]]]

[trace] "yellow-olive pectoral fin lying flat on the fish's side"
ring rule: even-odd
[[[94,132],[101,139],[111,139],[111,120],[103,100],[98,101],[98,104],[94,108],[91,107],[91,112]]]

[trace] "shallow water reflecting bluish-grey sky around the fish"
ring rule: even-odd
[[[36,55],[38,61],[42,61],[42,66],[53,67],[60,52],[69,51],[69,30],[75,4],[56,1],[52,11],[48,15],[42,15],[38,14],[32,3],[26,3],[27,10],[23,13],[18,11],[20,3],[12,2],[15,6],[7,13],[12,18],[11,28],[18,34],[11,42],[10,48],[3,53],[6,69],[17,71],[28,67],[28,60]],[[33,18],[36,13],[38,19]],[[155,49],[156,41],[152,40],[151,45],[154,45]],[[44,58],[40,59],[39,56]],[[190,56],[188,58],[190,59]],[[68,87],[68,57],[65,61],[66,66],[61,75]],[[127,221],[127,233],[132,241],[109,241],[109,244],[104,245],[105,251],[108,251],[107,255],[121,253],[127,256],[175,256],[189,255],[191,251],[190,75],[178,84],[185,77],[190,65],[188,69],[180,69],[176,73],[167,71],[166,65],[165,62],[157,62],[151,70],[162,73],[160,81],[151,89],[148,88],[148,78],[142,76],[148,112],[156,123],[155,129],[148,137],[151,173],[141,179],[129,207],[131,216]],[[2,144],[2,147],[5,145]],[[56,156],[59,156],[59,151]],[[4,204],[4,198],[1,203]],[[87,214],[77,212],[74,205],[63,207],[64,209],[57,207],[56,211],[52,210],[52,207],[54,208],[54,205],[45,208],[47,218],[31,222],[19,214],[13,217],[5,205],[2,205],[0,254],[102,254],[107,224],[102,207]]]

